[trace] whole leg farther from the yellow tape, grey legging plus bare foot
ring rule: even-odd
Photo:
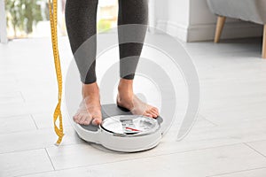
[[[136,37],[144,42],[147,23],[148,0],[119,0],[118,25],[133,24],[132,27],[118,27],[120,43],[124,41],[123,38],[128,34],[135,34],[134,38]],[[134,24],[140,26],[134,26]],[[131,33],[130,29],[135,31]],[[133,92],[133,79],[143,43],[121,43],[119,48],[121,81],[118,87],[117,104],[129,109],[133,114],[156,118],[159,115],[158,109],[143,103]]]

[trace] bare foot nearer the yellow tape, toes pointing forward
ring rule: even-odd
[[[73,119],[82,125],[99,125],[102,122],[99,89],[97,83],[83,84],[83,100]]]

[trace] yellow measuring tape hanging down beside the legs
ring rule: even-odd
[[[53,125],[56,134],[59,136],[56,145],[59,145],[62,142],[64,133],[63,133],[63,122],[62,122],[62,112],[61,112],[61,98],[62,98],[62,73],[60,66],[59,58],[59,45],[58,45],[58,1],[49,0],[49,14],[50,14],[50,23],[51,23],[51,42],[52,42],[52,51],[54,57],[55,70],[57,73],[57,80],[59,85],[59,103],[53,113]],[[57,126],[57,120],[59,119],[59,127]]]

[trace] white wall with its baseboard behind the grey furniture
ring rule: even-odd
[[[213,40],[216,16],[206,0],[154,0],[156,27],[185,42]],[[222,39],[261,36],[262,26],[237,19],[227,19]]]

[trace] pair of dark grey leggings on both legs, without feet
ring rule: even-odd
[[[107,0],[108,1],[108,0]],[[66,0],[66,29],[73,54],[88,40],[91,36],[97,33],[97,7],[98,0]],[[148,22],[148,0],[119,0],[118,12],[118,26],[129,24],[147,25]],[[145,30],[141,30],[143,40],[145,38]],[[134,33],[133,33],[134,34]],[[119,42],[122,40],[120,30],[118,30]],[[143,48],[142,43],[129,42],[119,45],[120,61],[122,58],[134,58],[137,62]],[[81,80],[85,84],[97,81],[95,73],[96,65],[96,43],[95,46],[90,47],[90,56],[86,58],[75,58],[78,66]],[[86,68],[86,72],[82,63],[90,62],[90,68]],[[120,62],[120,76],[121,78],[133,80],[137,68],[137,62],[132,62],[128,65],[133,69],[128,74],[123,73],[127,70],[127,62]],[[127,71],[126,71],[127,72]]]

